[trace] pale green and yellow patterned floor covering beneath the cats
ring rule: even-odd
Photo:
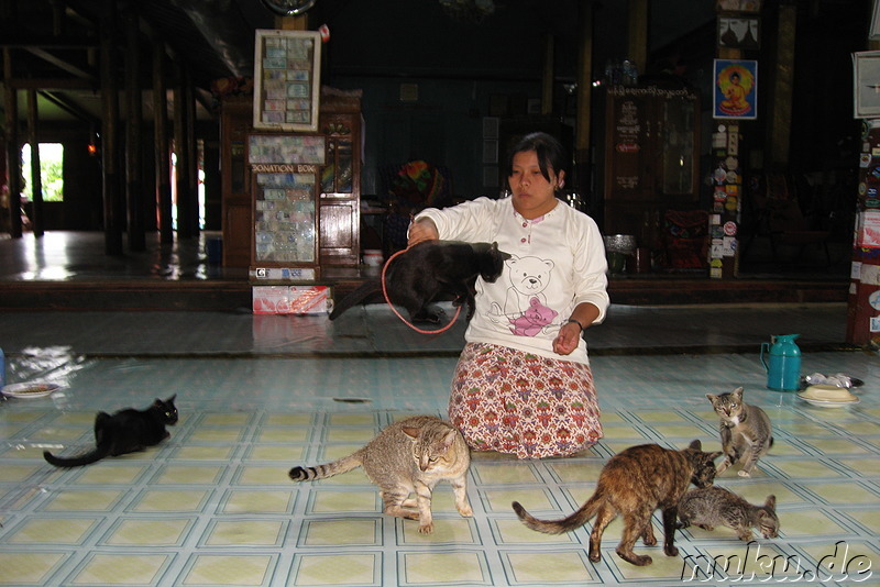
[[[0,403],[0,585],[679,585],[682,576],[722,585],[749,582],[734,567],[722,577],[721,566],[705,582],[700,573],[714,557],[743,557],[756,582],[781,577],[781,558],[777,569],[761,566],[777,556],[809,573],[835,550],[835,561],[880,561],[880,364],[860,353],[805,356],[809,370],[866,380],[861,402],[846,409],[765,389],[749,355],[597,356],[605,439],[576,458],[475,455],[474,517],[461,518],[440,485],[430,536],[383,516],[360,470],[298,485],[286,472],[348,454],[397,418],[443,414],[452,357],[59,363],[52,373],[65,372],[65,387],[52,397]],[[750,479],[728,473],[718,485],[752,502],[774,494],[779,539],[747,550],[730,530],[689,529],[678,534],[678,557],[639,545],[654,558],[639,568],[614,554],[619,521],[592,564],[588,527],[548,536],[516,520],[515,499],[546,518],[572,511],[626,446],[717,445],[704,394],[737,385],[768,411],[777,442]],[[89,446],[96,410],[172,394],[182,420],[161,447],[70,470],[43,462],[43,447]]]

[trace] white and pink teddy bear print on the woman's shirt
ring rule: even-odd
[[[492,313],[498,318],[507,318],[514,334],[535,336],[559,314],[546,306],[547,297],[543,295],[550,284],[550,272],[554,263],[539,257],[514,255],[505,265],[510,287],[507,288],[504,308],[493,302]]]

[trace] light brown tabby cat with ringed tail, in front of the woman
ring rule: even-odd
[[[416,416],[385,428],[355,453],[316,467],[294,467],[295,481],[324,479],[364,467],[381,489],[385,513],[419,521],[419,532],[433,532],[431,491],[448,480],[455,492],[455,508],[473,516],[468,502],[466,476],[471,454],[459,430],[433,416]],[[415,492],[416,498],[409,499]]]

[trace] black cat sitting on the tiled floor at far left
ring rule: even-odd
[[[177,408],[174,395],[166,400],[156,399],[145,410],[128,408],[110,416],[98,412],[95,417],[95,450],[69,458],[43,452],[43,457],[56,467],[80,467],[106,456],[119,456],[143,451],[164,441],[170,433],[166,425],[177,423]]]

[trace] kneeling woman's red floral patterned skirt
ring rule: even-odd
[[[588,365],[468,343],[452,377],[449,418],[475,451],[568,456],[602,438]]]

